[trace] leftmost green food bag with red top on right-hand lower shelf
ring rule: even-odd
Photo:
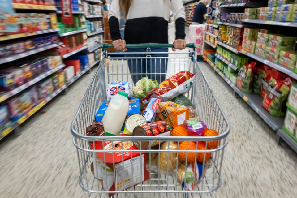
[[[250,62],[240,68],[237,77],[237,87],[243,93],[253,92],[253,71],[256,66],[256,62]]]

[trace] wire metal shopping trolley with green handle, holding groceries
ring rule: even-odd
[[[112,45],[103,44],[103,48],[101,50],[101,62],[88,86],[88,89],[84,95],[84,98],[79,106],[79,109],[77,110],[75,117],[71,123],[71,133],[73,134],[73,143],[76,146],[77,150],[77,156],[78,156],[78,162],[79,162],[79,184],[84,189],[85,192],[89,193],[89,196],[91,196],[92,193],[99,193],[100,197],[108,197],[108,196],[117,196],[117,197],[130,197],[131,195],[134,197],[168,197],[168,196],[175,196],[175,197],[196,197],[197,193],[199,193],[201,196],[212,196],[213,192],[216,191],[220,185],[222,184],[222,178],[221,178],[221,168],[222,168],[222,160],[223,160],[223,154],[224,154],[224,148],[228,142],[227,135],[230,131],[230,125],[229,122],[226,119],[225,114],[223,113],[220,105],[217,102],[216,97],[214,96],[212,90],[209,87],[209,84],[207,80],[205,79],[204,74],[202,73],[197,61],[196,61],[196,51],[189,51],[189,52],[174,52],[174,53],[157,53],[161,54],[160,57],[152,57],[153,52],[150,52],[150,49],[153,47],[173,47],[171,44],[130,44],[127,45],[127,47],[142,47],[147,48],[146,52],[143,54],[146,54],[144,58],[139,58],[136,56],[136,54],[139,53],[126,53],[126,54],[135,54],[135,57],[130,58],[113,58],[110,57],[112,55],[118,55],[118,54],[125,54],[123,52],[121,53],[108,53],[103,52],[104,48],[111,48]],[[187,44],[187,47],[195,48],[193,44]],[[156,53],[155,53],[156,54]],[[161,57],[163,54],[168,54],[168,57]],[[160,63],[163,62],[165,64],[166,60],[168,66],[167,66],[167,73],[146,73],[145,71],[142,72],[144,75],[159,75],[163,74],[166,75],[166,78],[178,73],[179,71],[190,71],[192,73],[196,73],[196,81],[193,84],[192,88],[190,89],[189,93],[187,93],[187,97],[191,99],[197,117],[199,120],[204,121],[204,123],[207,125],[208,128],[216,130],[219,135],[218,136],[86,136],[86,127],[92,124],[92,121],[94,119],[95,114],[97,113],[97,110],[99,109],[100,105],[104,100],[107,99],[106,97],[106,90],[107,90],[107,84],[111,81],[127,81],[130,82],[131,86],[133,85],[133,81],[131,76],[137,75],[137,74],[130,74],[127,66],[127,62],[129,59],[141,59],[141,61],[146,63],[152,63],[159,61]],[[148,64],[150,67],[152,67],[153,64]],[[161,65],[162,67],[162,65]],[[164,65],[165,67],[165,65]],[[134,72],[131,72],[134,73]],[[137,79],[140,80],[140,79]],[[158,79],[157,79],[158,80]],[[159,80],[158,80],[158,83]],[[116,119],[116,118],[114,118]],[[107,175],[107,166],[106,163],[102,162],[102,178],[103,181],[99,181],[97,178],[94,177],[93,169],[93,157],[96,156],[96,153],[104,153],[106,150],[93,150],[90,145],[94,144],[95,141],[100,141],[103,144],[103,141],[112,141],[118,142],[118,144],[121,144],[120,149],[123,149],[123,142],[130,142],[130,144],[133,143],[133,141],[152,141],[152,140],[159,140],[161,142],[169,142],[169,141],[175,141],[178,144],[182,141],[204,141],[207,145],[209,141],[218,141],[218,146],[216,149],[210,149],[207,150],[208,153],[211,153],[211,158],[207,162],[205,162],[205,150],[188,150],[188,147],[186,150],[161,150],[160,146],[162,143],[160,143],[158,146],[148,148],[148,149],[140,149],[140,150],[109,150],[108,152],[111,153],[132,153],[137,152],[140,153],[140,156],[143,156],[144,153],[146,154],[146,159],[143,157],[140,158],[140,163],[135,164],[131,157],[131,165],[129,164],[127,166],[127,162],[120,162],[117,165],[117,168],[120,167],[121,169],[117,169],[119,172],[117,175],[115,174],[115,171],[112,174],[112,180],[114,182],[121,181],[122,179],[122,185],[121,189],[118,189],[119,184],[117,184],[117,188],[114,190],[105,189],[101,182],[108,183],[108,175]],[[169,143],[168,143],[169,144]],[[188,145],[188,143],[187,143]],[[157,148],[156,148],[157,147]],[[205,173],[200,178],[199,182],[196,183],[196,187],[189,191],[182,187],[177,182],[177,171],[170,171],[169,165],[167,163],[167,171],[160,171],[158,169],[157,171],[153,171],[151,167],[153,167],[153,164],[155,161],[151,161],[151,156],[153,153],[174,153],[176,154],[176,157],[178,157],[179,152],[192,152],[195,153],[195,159],[196,155],[199,153],[204,153],[204,163],[203,163],[203,169],[206,170]],[[188,153],[187,153],[188,155]],[[169,155],[168,160],[169,160]],[[123,157],[123,154],[122,154]],[[160,167],[160,155],[157,155],[159,157],[159,163],[156,164],[156,166]],[[105,158],[104,158],[105,159]],[[97,162],[98,163],[98,162]],[[149,179],[141,182],[140,180],[143,179],[143,171],[144,171],[144,165],[147,164],[147,171],[149,171]],[[177,161],[177,166],[179,166],[179,162]],[[121,165],[122,164],[122,165]],[[187,167],[189,163],[187,162],[185,167]],[[96,165],[95,165],[96,166]],[[124,168],[124,166],[126,168]],[[176,167],[177,167],[176,166]],[[205,166],[208,166],[207,169],[205,169]],[[106,170],[104,167],[107,167]],[[113,163],[113,168],[115,169],[115,163]],[[96,167],[95,167],[96,169]],[[125,183],[124,181],[127,177],[130,179],[135,179],[137,176],[133,174],[136,174],[135,171],[140,171],[139,176],[140,180],[138,180],[138,184],[134,185],[133,187],[130,187],[128,183]],[[194,170],[195,171],[195,170]],[[110,174],[110,172],[108,172]],[[131,175],[132,174],[132,175]],[[195,173],[194,173],[195,174]],[[123,176],[125,175],[125,176]],[[127,179],[126,179],[127,180]],[[134,180],[135,182],[135,180]],[[128,186],[125,186],[128,185]],[[116,184],[114,184],[116,185]],[[130,188],[127,188],[130,187]],[[126,189],[127,188],[127,189]],[[117,190],[118,189],[118,190]],[[126,189],[126,190],[125,190]]]

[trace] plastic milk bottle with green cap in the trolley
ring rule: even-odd
[[[128,94],[119,91],[114,95],[102,118],[104,130],[107,136],[115,136],[121,132],[125,117],[129,110]]]

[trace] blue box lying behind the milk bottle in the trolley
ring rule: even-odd
[[[109,104],[109,100],[103,101],[102,105],[100,106],[99,110],[97,111],[97,114],[95,115],[95,121],[97,121],[97,122],[102,121],[102,118],[105,114],[108,104]],[[127,115],[131,115],[131,114],[135,114],[135,113],[140,113],[139,98],[129,98],[129,110],[128,110]],[[123,131],[124,125],[125,125],[125,123],[123,124],[121,131]]]

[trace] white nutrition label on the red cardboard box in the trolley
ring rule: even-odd
[[[132,162],[131,162],[132,161]],[[140,162],[141,161],[141,162]],[[133,163],[133,165],[132,165]],[[141,166],[140,166],[141,165]],[[132,168],[133,167],[133,168]],[[144,180],[144,154],[115,165],[116,190],[131,187]],[[132,178],[133,171],[133,178]]]

